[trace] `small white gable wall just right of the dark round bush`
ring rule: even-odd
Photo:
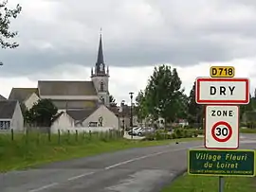
[[[51,131],[58,132],[58,130],[67,131],[74,126],[74,120],[67,114],[63,113],[51,125]]]

